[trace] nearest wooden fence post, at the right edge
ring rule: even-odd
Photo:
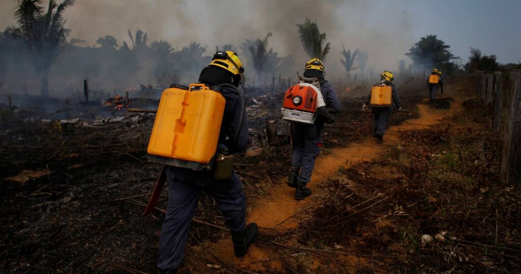
[[[505,121],[501,181],[504,184],[519,184],[521,183],[521,72],[510,73],[510,84],[513,93]]]

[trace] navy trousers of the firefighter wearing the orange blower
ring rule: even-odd
[[[311,181],[315,158],[320,153],[318,142],[320,141],[322,126],[293,123],[292,128],[294,150],[291,166],[300,168],[297,180],[307,183]]]

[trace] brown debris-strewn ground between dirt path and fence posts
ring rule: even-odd
[[[502,142],[479,105],[341,169],[299,228],[265,244],[297,272],[519,272],[521,193],[500,183]]]

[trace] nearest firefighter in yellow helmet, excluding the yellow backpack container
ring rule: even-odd
[[[226,99],[225,113],[219,134],[218,147],[230,153],[241,151],[249,140],[249,130],[244,103],[237,87],[244,73],[242,63],[232,51],[217,52],[212,62],[203,68],[199,82],[219,89]],[[225,84],[225,85],[224,85]],[[242,183],[233,173],[230,180],[216,181],[213,171],[194,171],[168,166],[168,207],[159,240],[157,267],[160,272],[175,272],[184,257],[184,247],[190,222],[197,207],[201,192],[212,196],[231,230],[235,256],[242,257],[255,241],[258,227],[255,223],[246,226],[246,198]]]

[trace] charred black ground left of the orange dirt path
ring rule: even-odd
[[[410,111],[396,114],[392,123],[417,115],[416,100],[406,99]],[[370,132],[370,113],[358,111],[359,103],[343,105],[337,123],[325,128],[325,153]],[[5,116],[1,125],[2,271],[155,272],[163,215],[142,215],[161,168],[146,161],[153,115],[106,118],[95,125],[31,122],[23,115]],[[236,160],[249,210],[283,181],[291,157],[290,145],[266,146],[265,133],[255,131],[252,142],[262,145],[262,154]],[[214,204],[201,195],[194,219],[224,225]],[[166,192],[158,204],[165,207]],[[191,232],[199,241],[228,235],[201,223],[192,223]],[[188,244],[189,251],[198,245],[192,238]]]

